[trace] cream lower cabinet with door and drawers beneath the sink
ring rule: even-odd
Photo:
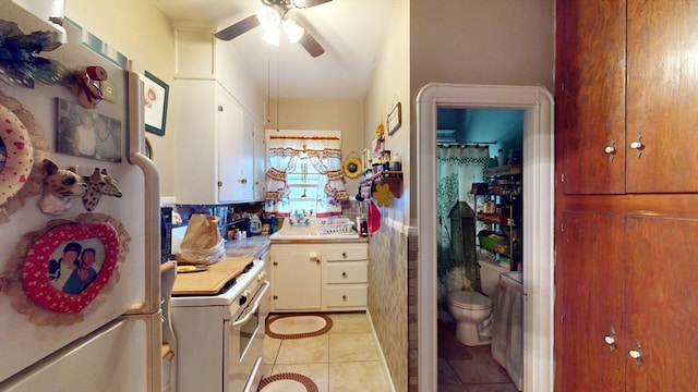
[[[270,247],[272,310],[365,310],[366,243],[292,243]]]

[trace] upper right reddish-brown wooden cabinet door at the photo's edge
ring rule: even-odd
[[[626,191],[698,192],[698,2],[627,4]]]

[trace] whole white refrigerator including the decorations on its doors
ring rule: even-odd
[[[33,157],[40,160],[31,164],[32,175],[19,180],[17,192],[12,187],[17,185],[13,171],[26,169],[26,163],[13,154],[19,151],[17,146],[26,145],[13,138],[16,133],[3,134],[0,391],[161,390],[159,177],[144,155],[144,78],[129,71],[132,64],[118,48],[68,20],[62,26],[65,42],[57,48],[34,48],[22,61],[8,60],[8,56],[23,56],[19,49],[27,48],[26,40],[36,39],[31,37],[32,32],[50,32],[53,27],[10,0],[0,0],[0,20],[16,23],[27,35],[19,38],[7,23],[0,29],[4,35],[0,39],[0,122],[11,123],[16,114],[22,125],[32,128],[2,123],[0,130],[28,135]],[[88,106],[99,99],[88,96],[89,86],[50,84],[50,77],[58,78],[60,72],[47,68],[44,59],[59,62],[71,74],[89,68],[98,76],[89,83],[101,88],[104,100],[91,109]],[[95,81],[105,76],[106,83]],[[23,78],[24,83],[33,81],[34,87],[22,86]],[[85,98],[87,107],[81,105]],[[92,138],[92,151],[84,152],[72,143],[77,113],[84,112],[95,122],[110,125],[116,155],[95,151],[97,138],[101,139],[98,134],[81,139]],[[70,121],[75,124],[68,124]],[[45,193],[71,184],[57,184],[52,176],[46,184],[31,181],[45,168],[43,158],[59,169],[76,167],[83,181],[91,174],[108,173],[121,196],[110,195],[104,184],[98,184],[103,192],[96,205],[94,199],[84,203],[82,197],[68,197],[70,208],[65,209],[64,197],[55,200],[51,195],[45,198]],[[14,181],[13,185],[3,184],[5,180]],[[46,200],[61,206],[64,212],[46,208]],[[73,242],[79,248],[97,248],[92,254],[98,270],[93,269],[92,281],[79,289],[82,291],[69,293],[65,285],[61,290],[60,277],[53,280],[50,259],[68,254],[64,249],[74,246],[68,245]],[[88,258],[85,254],[81,261],[73,262],[74,270],[83,268],[86,261],[82,260]],[[71,269],[64,267],[58,269],[63,279],[72,277]]]

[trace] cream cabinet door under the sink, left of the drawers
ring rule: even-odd
[[[313,310],[322,306],[322,267],[309,249],[275,247],[272,255],[273,296],[276,310]]]

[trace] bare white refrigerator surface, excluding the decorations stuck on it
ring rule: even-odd
[[[55,28],[10,0],[0,0],[0,19],[15,22],[24,34]],[[0,391],[156,391],[161,371],[159,177],[153,162],[141,154],[141,77],[125,71],[130,62],[113,48],[67,20],[63,28],[67,42],[38,54],[71,71],[93,65],[107,71],[116,101],[105,100],[91,111],[120,121],[120,162],[57,152],[57,98],[77,103],[65,86],[37,81],[34,88],[24,88],[0,82],[0,90],[32,112],[59,168],[77,166],[81,175],[95,168],[108,169],[123,196],[103,196],[92,212],[119,220],[131,241],[127,257],[111,274],[111,290],[100,292],[104,302],[95,303],[81,321],[59,326],[32,321],[15,309],[7,290],[0,291]],[[86,41],[105,54],[88,49]],[[39,196],[26,198],[9,222],[0,223],[0,287],[3,282],[8,287],[8,260],[25,233],[45,230],[56,218],[74,220],[87,213],[82,200],[73,198],[63,216],[49,216],[37,206]]]

